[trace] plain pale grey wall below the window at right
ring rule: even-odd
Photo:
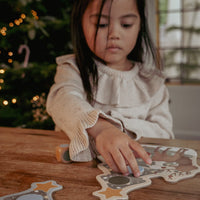
[[[168,85],[176,138],[200,140],[200,86]]]

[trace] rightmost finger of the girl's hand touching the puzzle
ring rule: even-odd
[[[134,140],[130,143],[131,149],[135,152],[137,152],[138,156],[142,158],[147,164],[151,164],[152,160],[149,156],[149,154],[144,150],[144,148]]]

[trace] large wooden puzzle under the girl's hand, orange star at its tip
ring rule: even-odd
[[[176,183],[200,173],[197,153],[193,149],[156,145],[143,147],[151,154],[153,163],[147,165],[142,159],[137,159],[138,165],[144,169],[140,177],[136,178],[133,174],[123,176],[113,172],[106,163],[100,163],[98,167],[103,174],[96,178],[102,188],[93,195],[101,200],[128,200],[129,192],[149,186],[152,178],[163,177],[167,182]]]

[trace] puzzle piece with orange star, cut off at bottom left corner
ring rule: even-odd
[[[53,200],[52,193],[62,188],[55,181],[37,182],[28,190],[0,197],[0,200]]]

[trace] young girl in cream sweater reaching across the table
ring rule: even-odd
[[[75,0],[75,55],[57,58],[47,111],[70,138],[70,158],[89,161],[98,152],[113,171],[140,175],[136,156],[151,164],[136,142],[173,138],[168,91],[145,18],[145,0]]]

